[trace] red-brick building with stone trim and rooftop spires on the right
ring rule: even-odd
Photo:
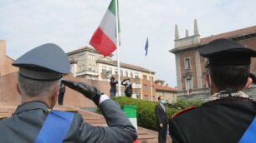
[[[198,31],[197,20],[194,21],[192,36],[186,32],[186,37],[180,38],[178,27],[175,26],[175,45],[170,52],[176,57],[178,98],[207,99],[209,90],[205,80],[207,69],[204,67],[207,59],[200,56],[198,49],[218,38],[230,38],[256,49],[256,26],[203,38],[200,37]],[[251,64],[251,71],[253,72],[256,72],[255,63],[256,61],[253,59]]]

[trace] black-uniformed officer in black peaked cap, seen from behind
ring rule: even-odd
[[[207,57],[208,101],[177,112],[169,122],[173,143],[256,142],[256,103],[243,92],[251,83],[256,51],[230,39],[199,49]]]

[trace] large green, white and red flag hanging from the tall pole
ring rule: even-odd
[[[119,22],[119,18],[118,18],[118,22]],[[118,33],[120,33],[120,27],[118,27]],[[94,35],[90,39],[90,45],[92,47],[95,47],[95,50],[97,50],[102,55],[104,55],[104,57],[109,56],[112,52],[115,51],[116,49],[115,0],[111,0],[108,10],[105,12],[105,16],[100,22],[100,27],[97,28]]]

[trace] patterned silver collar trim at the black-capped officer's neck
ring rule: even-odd
[[[218,93],[214,93],[212,96],[210,96],[208,101],[230,97],[230,96],[249,98],[249,96],[245,94],[243,91],[237,91],[237,92],[219,91]]]

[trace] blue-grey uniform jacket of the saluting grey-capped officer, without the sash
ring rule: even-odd
[[[79,113],[75,113],[63,142],[112,143],[132,142],[136,139],[136,129],[114,101],[109,99],[103,101],[100,110],[109,127],[91,126],[84,122]],[[0,121],[0,142],[32,143],[38,136],[48,113],[48,107],[38,101],[18,106],[12,117]]]

